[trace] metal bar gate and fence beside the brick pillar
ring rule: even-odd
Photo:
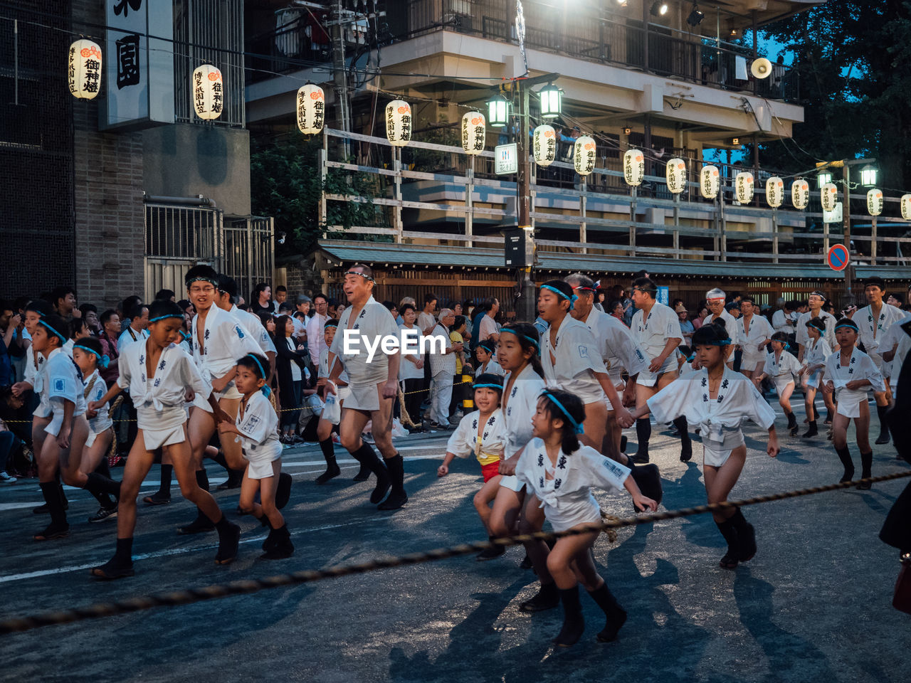
[[[220,209],[146,204],[146,301],[162,289],[185,296],[184,276],[201,263],[237,280],[246,298],[257,282],[273,278],[273,235],[271,218],[225,219]]]

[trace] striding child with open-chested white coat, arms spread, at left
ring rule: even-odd
[[[97,402],[97,410],[109,403],[123,389],[129,389],[136,405],[138,433],[124,468],[122,493],[118,506],[117,552],[102,566],[92,569],[92,576],[114,579],[133,576],[133,532],[136,527],[136,496],[139,486],[155,462],[155,449],[161,448],[174,467],[180,493],[202,511],[219,533],[219,550],[215,562],[229,564],[237,556],[241,527],[231,524],[221,514],[211,494],[200,488],[195,476],[187,438],[187,413],[183,409],[184,393],[196,392],[200,400],[209,400],[210,411],[220,421],[230,418],[219,408],[209,382],[200,375],[196,364],[182,351],[180,324],[183,311],[173,301],[154,301],[149,306],[148,338],[130,344],[120,355],[118,382]]]

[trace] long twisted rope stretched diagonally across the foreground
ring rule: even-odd
[[[257,593],[268,588],[278,588],[281,586],[300,586],[309,584],[323,579],[340,578],[342,576],[353,576],[355,574],[366,574],[368,572],[378,571],[380,569],[389,569],[396,566],[420,565],[425,562],[435,562],[445,560],[450,557],[469,555],[471,553],[481,552],[494,547],[508,547],[510,545],[519,545],[527,541],[540,540],[548,541],[565,536],[583,535],[592,532],[602,532],[608,529],[617,529],[622,526],[646,525],[653,522],[660,522],[666,519],[678,519],[680,517],[689,517],[692,515],[704,515],[720,510],[727,510],[732,507],[743,507],[746,505],[759,505],[762,503],[771,503],[788,498],[797,498],[804,495],[822,494],[828,491],[836,491],[843,488],[851,488],[862,482],[876,484],[879,482],[888,482],[895,479],[901,479],[911,476],[911,471],[899,472],[895,474],[884,474],[882,476],[859,479],[853,482],[844,482],[843,484],[827,484],[824,486],[814,486],[812,488],[797,489],[796,491],[785,491],[777,494],[757,495],[741,501],[725,501],[724,503],[714,503],[711,505],[697,505],[696,507],[683,508],[681,510],[669,510],[663,513],[651,513],[650,515],[641,515],[635,517],[625,517],[622,519],[609,519],[602,523],[581,525],[574,529],[568,529],[562,532],[536,532],[534,534],[520,534],[495,538],[493,541],[482,543],[466,543],[461,545],[452,545],[450,547],[436,548],[420,553],[411,553],[409,555],[398,557],[381,557],[369,562],[363,562],[353,565],[331,566],[326,569],[315,569],[310,571],[292,572],[291,574],[281,574],[279,576],[268,576],[266,578],[242,579],[231,581],[227,584],[215,584],[212,586],[202,586],[199,588],[187,588],[184,590],[169,591],[165,593],[153,593],[148,596],[135,596],[125,600],[118,600],[109,603],[96,603],[87,607],[77,607],[76,609],[64,609],[48,612],[40,612],[26,617],[17,617],[0,621],[0,635],[10,633],[20,633],[30,631],[40,627],[55,626],[59,624],[72,624],[77,621],[87,619],[97,619],[102,617],[115,617],[122,614],[139,612],[153,607],[175,607],[178,605],[191,605],[203,600],[213,600],[220,597],[241,596]]]

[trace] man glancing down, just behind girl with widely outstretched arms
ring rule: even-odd
[[[639,278],[632,283],[632,301],[636,304],[636,312],[632,316],[630,330],[649,362],[649,367],[636,378],[637,410],[644,409],[652,396],[679,376],[677,347],[683,341],[680,318],[670,306],[655,301],[657,293],[658,286],[648,278]],[[685,463],[692,457],[692,444],[684,418],[678,418],[674,426],[681,433],[681,462]],[[636,420],[636,436],[639,445],[631,461],[648,463],[651,437],[648,411],[640,413],[640,418]]]

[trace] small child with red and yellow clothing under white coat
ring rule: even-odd
[[[503,459],[507,441],[506,421],[500,410],[500,398],[503,395],[503,379],[496,374],[478,375],[474,384],[474,399],[477,410],[466,414],[456,427],[455,432],[446,443],[446,455],[437,470],[437,476],[449,474],[449,464],[455,457],[466,458],[474,453],[481,465],[484,485],[475,494],[474,504],[477,515],[481,518],[490,540],[496,536],[490,530],[490,504],[500,489],[500,461]],[[491,547],[481,551],[479,561],[499,557],[506,552],[503,546]]]

